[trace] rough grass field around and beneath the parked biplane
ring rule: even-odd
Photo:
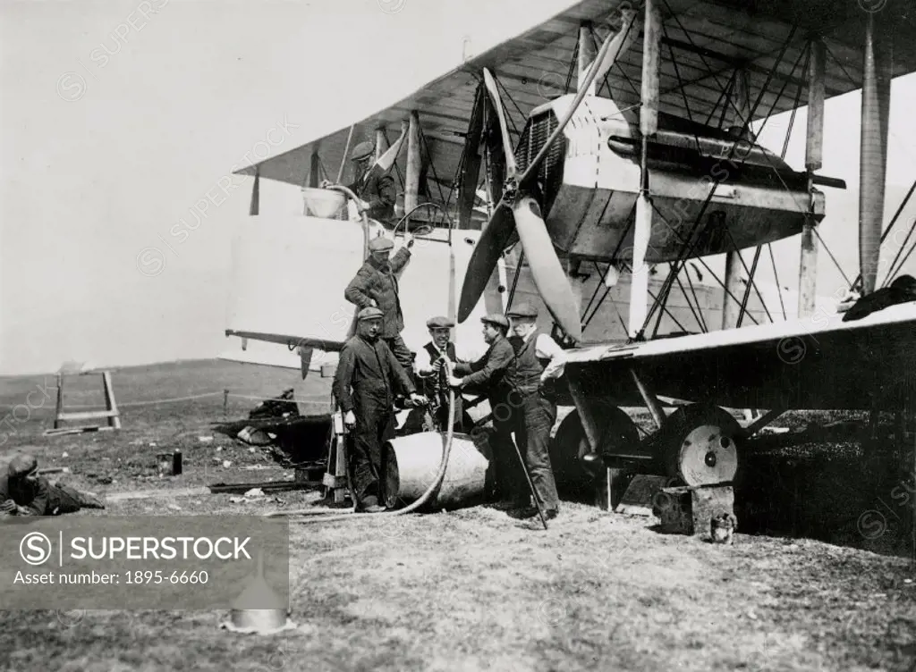
[[[225,389],[276,396],[297,378],[211,361],[125,369],[114,373],[124,428],[56,438],[41,436],[54,390],[27,397],[53,387],[52,376],[0,379],[4,413],[27,404],[8,416],[0,460],[27,450],[42,467],[67,466],[62,480],[109,496],[105,512],[74,516],[300,507],[311,493],[256,504],[202,491],[289,475],[213,424],[256,403],[230,396],[224,409]],[[316,401],[326,383],[309,384]],[[77,379],[67,404],[92,404],[96,388],[93,377]],[[822,419],[785,423],[812,418]],[[814,436],[761,442],[748,458],[733,547],[572,503],[546,532],[490,506],[293,525],[296,630],[229,634],[218,628],[226,612],[0,612],[0,669],[914,670],[916,574],[895,494],[902,468],[873,463],[848,437]],[[157,453],[176,448],[184,473],[158,477]],[[868,512],[883,526],[874,515],[863,526]]]

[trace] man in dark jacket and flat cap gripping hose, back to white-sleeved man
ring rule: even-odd
[[[484,341],[487,351],[476,362],[456,363],[451,385],[456,388],[456,394],[468,387],[484,391],[493,412],[494,433],[490,439],[490,448],[493,450],[496,496],[514,506],[527,504],[528,486],[525,485],[524,474],[518,478],[518,457],[512,445],[512,428],[508,423],[510,417],[507,409],[509,387],[506,383],[506,373],[515,352],[506,338],[509,320],[499,314],[485,315],[480,319],[483,322]],[[463,376],[463,377],[460,377]],[[519,491],[521,483],[525,490]]]

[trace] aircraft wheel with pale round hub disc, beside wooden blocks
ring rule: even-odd
[[[737,420],[719,406],[682,406],[660,429],[659,458],[669,475],[687,485],[733,481],[740,432]]]

